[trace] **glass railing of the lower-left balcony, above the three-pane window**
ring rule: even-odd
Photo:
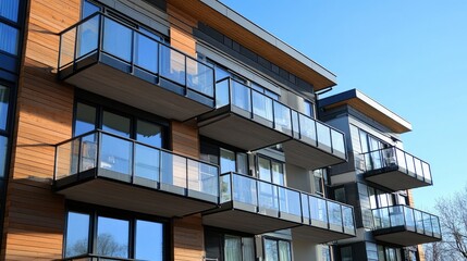
[[[155,189],[168,185],[219,197],[218,166],[102,130],[57,146],[57,183],[81,181],[88,172]]]

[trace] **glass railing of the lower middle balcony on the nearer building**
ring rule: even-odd
[[[258,213],[286,213],[304,225],[355,235],[354,209],[341,202],[237,173],[222,174],[220,190],[221,203],[241,202]]]

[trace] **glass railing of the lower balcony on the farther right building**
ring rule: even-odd
[[[407,206],[373,209],[374,229],[404,226],[405,229],[430,237],[441,238],[438,216]]]

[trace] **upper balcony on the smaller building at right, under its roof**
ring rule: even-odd
[[[432,185],[430,165],[395,147],[362,154],[364,177],[394,191]]]

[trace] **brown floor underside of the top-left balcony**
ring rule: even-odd
[[[78,88],[165,119],[185,121],[213,108],[212,100],[194,95],[193,91],[188,96],[192,95],[194,99],[185,97],[184,87],[177,84],[143,71],[132,74],[126,63],[105,54],[97,61],[96,57],[97,54],[93,54],[77,62],[78,70],[74,72],[70,66],[60,74],[66,83]]]

